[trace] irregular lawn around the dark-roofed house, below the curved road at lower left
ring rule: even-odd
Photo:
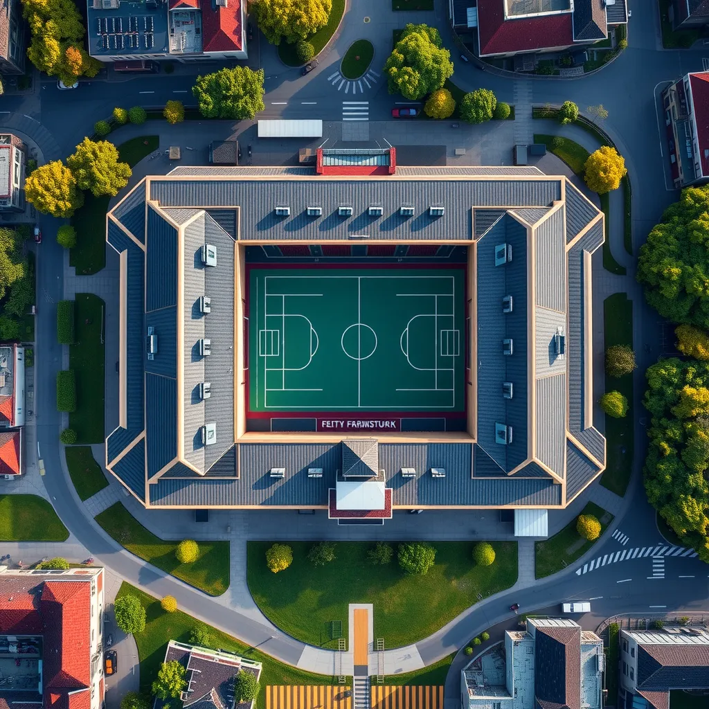
[[[123,581],[121,588],[118,590],[118,597],[120,596],[138,596],[147,613],[145,630],[134,636],[135,642],[138,644],[138,658],[140,659],[140,691],[146,695],[150,694],[152,681],[157,677],[157,670],[165,658],[167,641],[189,642],[192,630],[197,628],[204,628],[209,632],[212,636],[213,647],[235,652],[241,657],[263,663],[260,680],[261,693],[256,703],[259,709],[263,709],[266,706],[265,693],[268,684],[337,684],[337,677],[311,674],[296,667],[282,664],[269,657],[269,655],[239,642],[231,635],[216,630],[216,628],[202,623],[201,620],[192,618],[191,615],[183,613],[182,610],[177,610],[175,613],[165,613],[160,608],[160,600],[158,598],[143,593],[143,591],[135,588],[135,586],[130,586],[125,581]]]

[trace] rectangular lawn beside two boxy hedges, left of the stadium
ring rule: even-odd
[[[77,379],[77,410],[69,414],[69,428],[77,443],[104,442],[104,329],[106,303],[90,293],[77,293],[74,345],[69,345],[69,367]]]

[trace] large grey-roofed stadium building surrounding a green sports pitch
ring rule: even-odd
[[[108,214],[120,412],[148,508],[508,508],[546,535],[605,467],[603,213],[534,167],[178,167]]]

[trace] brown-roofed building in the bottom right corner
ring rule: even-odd
[[[621,630],[618,642],[622,709],[671,709],[671,690],[703,690],[709,701],[709,632],[705,628]]]

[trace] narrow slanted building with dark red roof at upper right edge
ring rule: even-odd
[[[685,74],[662,91],[662,107],[674,186],[709,178],[709,72]]]

